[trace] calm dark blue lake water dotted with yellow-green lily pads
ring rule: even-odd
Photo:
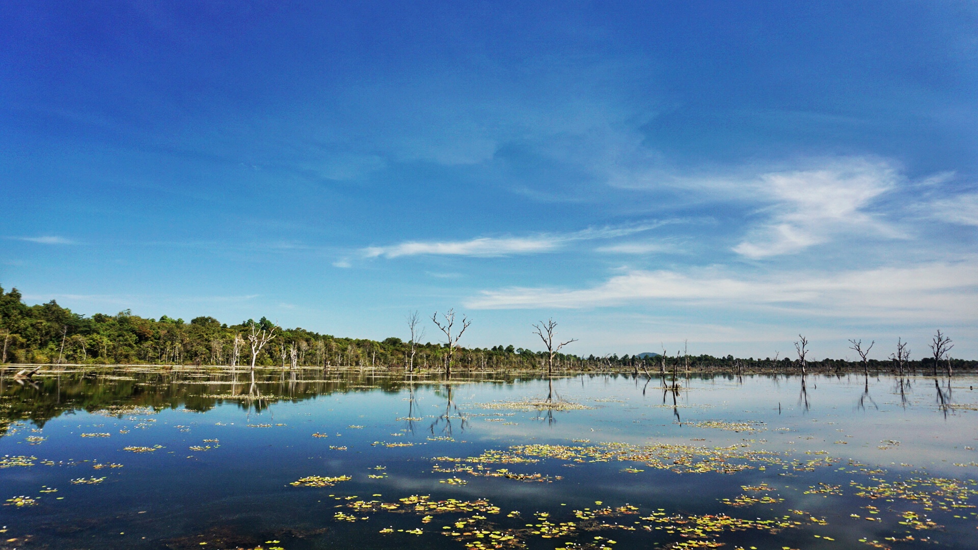
[[[248,382],[8,372],[0,548],[978,546],[975,377]]]

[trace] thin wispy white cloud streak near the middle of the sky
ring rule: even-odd
[[[529,237],[479,237],[468,241],[410,241],[389,247],[369,247],[361,252],[364,257],[388,258],[420,254],[494,257],[554,252],[575,241],[624,237],[653,229],[662,223],[645,223],[629,227],[597,227],[573,233],[540,234]]]

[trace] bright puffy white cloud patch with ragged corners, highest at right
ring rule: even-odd
[[[733,248],[750,258],[802,251],[846,231],[899,233],[865,208],[893,189],[897,171],[885,162],[835,160],[819,169],[771,172],[748,184],[759,198],[774,203],[767,222]]]

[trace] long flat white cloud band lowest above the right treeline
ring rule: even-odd
[[[933,263],[830,275],[807,272],[738,277],[633,270],[583,290],[511,288],[483,291],[472,309],[614,306],[636,301],[780,310],[879,320],[978,320],[978,264]]]

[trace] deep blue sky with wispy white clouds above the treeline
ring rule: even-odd
[[[0,4],[0,285],[463,345],[978,358],[978,4]],[[438,341],[427,323],[425,341]]]

